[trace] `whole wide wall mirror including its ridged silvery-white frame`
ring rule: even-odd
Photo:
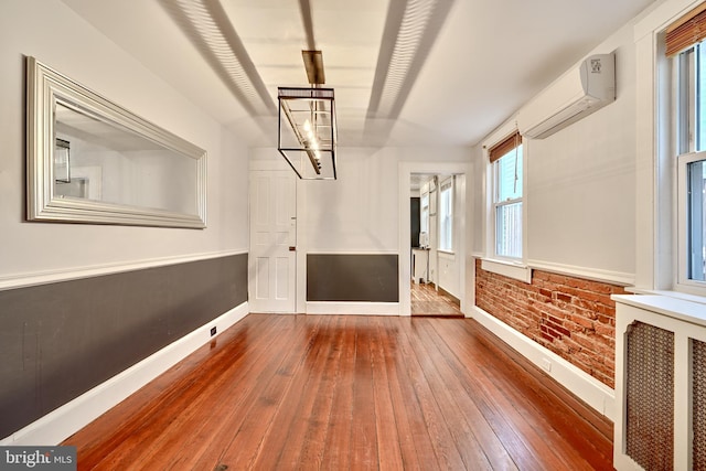
[[[28,220],[206,226],[206,152],[28,57]]]

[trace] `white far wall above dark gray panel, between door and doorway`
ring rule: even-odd
[[[253,149],[253,160],[284,162],[275,149]],[[469,150],[449,148],[342,148],[336,153],[338,180],[298,184],[298,222],[308,253],[398,253],[399,163],[467,162]],[[288,168],[286,163],[280,165]],[[404,247],[407,249],[407,247]]]

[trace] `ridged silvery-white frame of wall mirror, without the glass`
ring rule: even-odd
[[[206,152],[136,116],[65,75],[26,57],[28,220],[164,227],[206,227]],[[56,103],[68,104],[95,119],[133,132],[196,161],[196,213],[130,206],[54,194]]]

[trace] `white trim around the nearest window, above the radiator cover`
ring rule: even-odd
[[[665,54],[665,31],[698,3],[664,0],[645,11],[633,28],[635,45],[635,292],[674,292],[676,285],[675,103],[670,82],[673,62]],[[684,291],[685,292],[685,291]],[[706,290],[695,293],[706,299]]]

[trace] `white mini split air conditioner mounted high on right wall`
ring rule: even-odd
[[[591,55],[525,105],[517,128],[522,136],[544,139],[614,100],[614,54]]]

